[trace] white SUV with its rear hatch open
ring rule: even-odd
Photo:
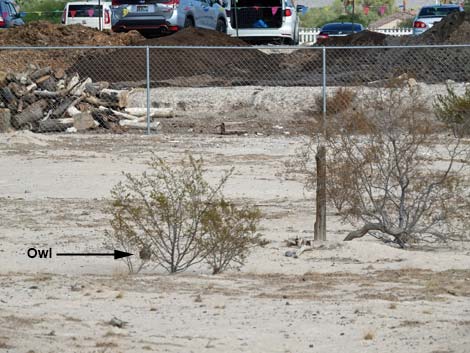
[[[227,0],[227,33],[255,42],[299,43],[299,16],[292,0]]]

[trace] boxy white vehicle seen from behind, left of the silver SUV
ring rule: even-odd
[[[65,4],[62,23],[80,24],[99,30],[111,29],[111,2],[98,2],[98,0],[69,2]]]

